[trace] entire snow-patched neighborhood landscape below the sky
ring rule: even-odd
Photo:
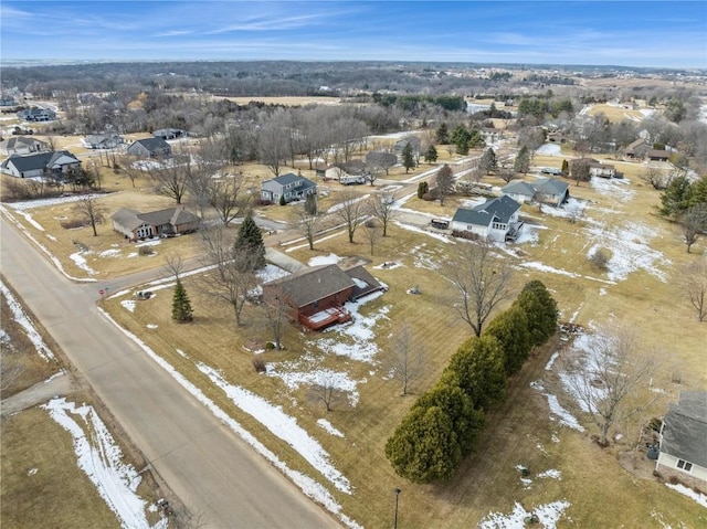
[[[2,527],[707,526],[706,70],[1,88]]]

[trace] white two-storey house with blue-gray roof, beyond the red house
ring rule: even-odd
[[[518,219],[520,204],[510,197],[489,199],[471,210],[460,208],[452,218],[452,233],[492,241],[514,241],[523,222]]]

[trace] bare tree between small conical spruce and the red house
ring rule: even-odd
[[[253,252],[236,251],[235,237],[218,226],[201,232],[204,264],[209,269],[199,276],[201,289],[209,296],[221,299],[233,308],[235,324],[242,325],[241,313],[249,292],[256,285]]]

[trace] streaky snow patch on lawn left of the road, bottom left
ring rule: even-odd
[[[120,447],[92,406],[76,408],[60,398],[41,408],[72,435],[78,468],[88,476],[123,528],[167,528],[166,518],[150,526],[145,515],[146,501],[136,493],[141,477],[133,465],[123,463]]]

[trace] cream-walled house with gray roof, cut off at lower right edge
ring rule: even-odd
[[[661,426],[661,466],[707,484],[707,392],[682,391]]]

